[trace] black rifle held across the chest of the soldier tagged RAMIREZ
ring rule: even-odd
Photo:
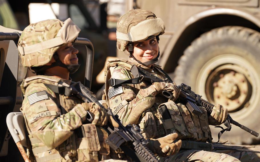
[[[151,83],[153,83],[153,82],[170,82],[170,83],[173,83],[168,78],[160,79],[157,76],[155,76],[155,75],[147,72],[146,70],[144,70],[144,69],[142,69],[138,66],[135,66],[135,65],[133,65],[131,67],[131,72],[132,72],[132,74],[135,78],[142,76],[144,81],[149,81]],[[178,88],[181,91],[181,93],[186,95],[186,96],[180,95],[179,100],[182,103],[186,104],[186,106],[187,106],[187,108],[189,109],[190,112],[192,112],[193,114],[196,114],[198,116],[201,116],[202,112],[198,108],[198,106],[202,106],[207,110],[207,113],[209,115],[211,114],[213,107],[214,107],[213,104],[211,104],[210,102],[202,99],[199,94],[196,94],[195,92],[191,91],[190,86],[187,86],[187,85],[182,83],[181,86],[178,86]],[[165,96],[169,99],[171,99],[173,97],[172,93],[168,92],[168,91],[163,91],[162,94],[163,94],[163,96]],[[185,97],[183,97],[183,96],[185,96]],[[247,132],[249,132],[250,134],[254,135],[255,137],[258,137],[258,135],[259,135],[259,133],[255,132],[252,129],[249,129],[248,127],[245,127],[244,125],[242,125],[242,124],[238,123],[237,121],[233,120],[231,118],[231,116],[228,114],[227,120],[224,122],[224,125],[227,126],[227,129],[222,128],[223,130],[219,132],[219,138],[224,131],[230,131],[230,129],[231,129],[230,123],[240,127],[241,129],[243,129]]]

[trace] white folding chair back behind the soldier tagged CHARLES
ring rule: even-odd
[[[6,117],[7,127],[15,141],[25,162],[30,162],[24,148],[27,147],[25,124],[23,122],[23,113],[11,112]]]

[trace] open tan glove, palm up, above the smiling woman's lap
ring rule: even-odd
[[[181,140],[173,142],[177,137],[177,133],[172,133],[158,139],[150,139],[149,148],[159,156],[171,156],[178,153],[181,148]]]

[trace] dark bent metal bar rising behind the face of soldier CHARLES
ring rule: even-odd
[[[92,42],[86,38],[77,38],[74,44],[85,45],[87,48],[87,60],[85,69],[85,81],[84,86],[91,88],[93,61],[94,61],[94,47]]]

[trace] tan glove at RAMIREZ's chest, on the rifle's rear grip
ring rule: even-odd
[[[153,83],[154,88],[157,90],[157,94],[163,92],[164,90],[167,90],[172,93],[173,98],[171,99],[173,102],[179,97],[180,90],[177,88],[177,85],[175,82],[173,83],[164,83],[164,82],[154,82]]]

